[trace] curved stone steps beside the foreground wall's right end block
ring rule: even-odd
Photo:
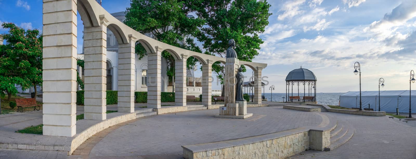
[[[337,127],[331,131],[331,144],[325,147],[324,151],[331,151],[347,142],[354,135],[354,128],[351,125],[339,122]]]

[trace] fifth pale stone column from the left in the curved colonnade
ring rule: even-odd
[[[186,106],[186,55],[175,60],[175,105]]]

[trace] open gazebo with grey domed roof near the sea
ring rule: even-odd
[[[290,71],[286,76],[286,102],[288,102],[288,99],[290,102],[316,102],[316,81],[314,73],[308,69],[302,68],[302,66]],[[300,96],[299,94],[300,84],[303,84],[303,96]],[[308,94],[306,94],[306,84],[308,85]],[[293,96],[293,86],[295,85],[297,85],[297,96]],[[292,86],[292,88],[290,88],[290,86]],[[312,88],[314,89],[313,96]]]

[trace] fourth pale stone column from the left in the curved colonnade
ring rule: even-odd
[[[156,47],[156,52],[147,53],[147,107],[161,108],[161,68],[162,68],[162,51]]]

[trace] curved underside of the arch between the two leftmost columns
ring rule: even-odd
[[[77,10],[84,23],[84,27],[99,26],[99,20],[88,0],[77,0]]]

